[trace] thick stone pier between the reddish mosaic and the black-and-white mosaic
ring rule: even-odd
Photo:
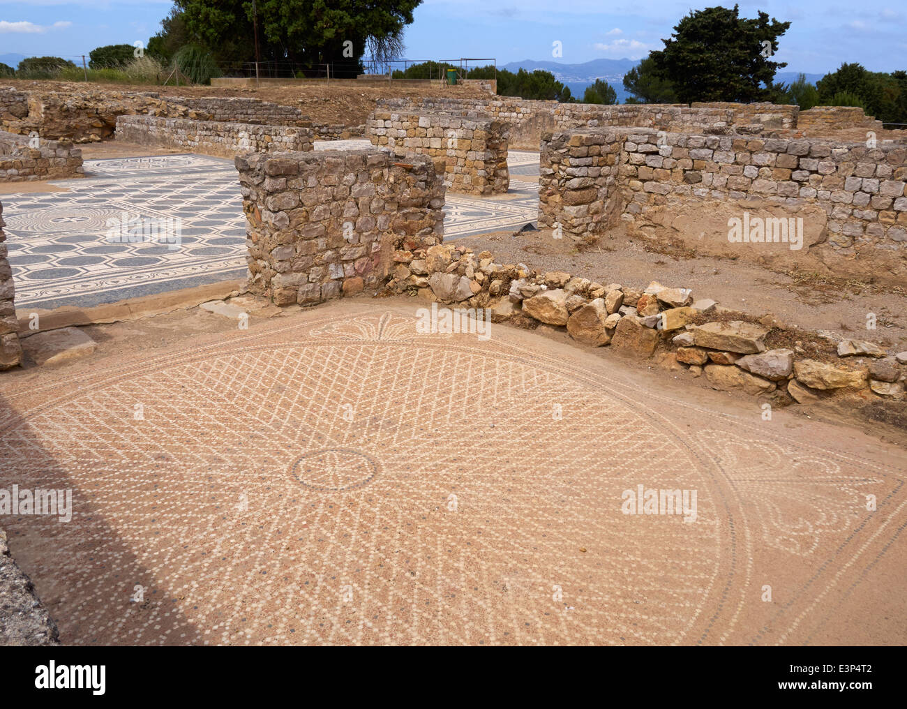
[[[375,287],[400,249],[444,237],[444,179],[432,160],[385,151],[239,156],[249,290],[277,305]]]

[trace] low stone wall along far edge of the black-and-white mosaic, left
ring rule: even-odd
[[[293,126],[119,116],[116,139],[232,158],[244,151],[311,151],[314,136],[310,128]]]

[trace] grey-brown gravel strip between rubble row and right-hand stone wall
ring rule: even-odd
[[[755,263],[655,250],[613,232],[597,246],[577,248],[551,231],[498,232],[458,239],[476,252],[488,249],[502,263],[567,271],[602,285],[646,287],[657,280],[693,290],[694,298],[753,316],[772,315],[787,326],[830,331],[897,351],[907,349],[907,292],[869,283],[834,281],[818,274],[775,273]],[[874,313],[876,329],[866,329]]]

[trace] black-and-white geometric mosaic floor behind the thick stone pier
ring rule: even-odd
[[[343,142],[359,147],[361,141]],[[335,147],[316,143],[317,149]],[[538,174],[538,155],[532,160],[532,153],[514,152],[514,170]],[[54,182],[67,192],[3,197],[16,306],[95,306],[245,275],[245,220],[231,160],[201,155],[86,160],[85,173],[84,180]],[[534,221],[537,189],[514,179],[507,199],[449,195],[446,238]],[[162,224],[168,218],[181,220],[178,248],[166,241],[108,239],[114,220]]]

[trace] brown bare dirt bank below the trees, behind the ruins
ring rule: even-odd
[[[67,82],[10,82],[10,85],[22,91],[67,91],[73,88],[104,90],[111,92],[157,92],[161,96],[210,96],[257,98],[262,101],[280,103],[286,106],[297,106],[309,119],[321,123],[339,124],[348,126],[360,125],[366,122],[368,114],[375,111],[375,102],[378,99],[397,99],[409,96],[443,96],[447,98],[468,98],[472,96],[485,96],[476,85],[445,86],[433,83],[426,86],[398,86],[387,88],[377,86],[329,86],[329,85],[297,85],[297,86],[263,86],[253,88],[248,86],[223,87],[223,86],[151,86],[130,85],[120,83],[67,83]]]

